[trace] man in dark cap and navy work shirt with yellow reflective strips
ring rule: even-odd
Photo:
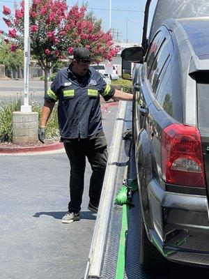
[[[100,95],[104,100],[132,100],[132,94],[114,89],[100,73],[90,67],[91,53],[86,47],[74,50],[72,63],[54,77],[45,96],[39,139],[45,139],[45,127],[59,100],[58,119],[61,142],[70,160],[70,202],[62,223],[79,220],[84,191],[86,157],[91,164],[88,209],[97,213],[107,165],[107,141],[102,130]]]

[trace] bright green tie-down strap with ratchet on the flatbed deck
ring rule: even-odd
[[[127,238],[127,228],[128,228],[128,211],[130,199],[132,193],[138,190],[137,179],[130,183],[130,187],[123,185],[116,195],[115,201],[117,204],[123,205],[123,216],[122,216],[122,225],[121,225],[121,236],[120,244],[118,250],[118,262],[116,268],[116,278],[123,279],[125,271],[125,252],[126,252],[126,238]]]

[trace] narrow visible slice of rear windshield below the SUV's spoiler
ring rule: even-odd
[[[204,74],[204,75],[208,75]],[[209,82],[208,77],[201,77],[196,82],[198,102],[198,123],[199,128],[209,128]]]

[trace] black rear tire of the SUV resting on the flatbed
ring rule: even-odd
[[[165,259],[157,248],[150,242],[144,227],[144,220],[140,213],[140,262],[146,271],[160,271],[169,268],[169,261]]]

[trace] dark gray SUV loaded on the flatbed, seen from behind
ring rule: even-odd
[[[208,1],[200,2],[206,11]],[[166,267],[160,251],[174,262],[209,266],[209,17],[165,20],[141,52],[122,53],[138,62],[132,77],[141,264]]]

